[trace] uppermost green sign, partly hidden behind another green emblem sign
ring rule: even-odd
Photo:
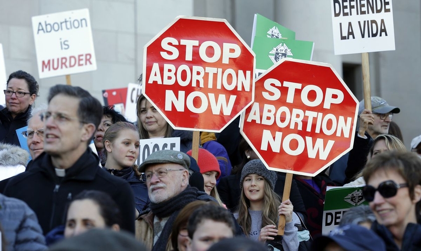
[[[270,19],[263,17],[262,15],[255,14],[253,21],[251,47],[253,47],[255,37],[284,38],[295,40],[295,32]]]

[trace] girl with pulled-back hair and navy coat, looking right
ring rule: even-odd
[[[129,182],[133,190],[135,207],[141,212],[149,202],[146,184],[134,165],[139,156],[139,134],[129,122],[117,122],[105,131],[104,154],[107,158],[105,170]]]

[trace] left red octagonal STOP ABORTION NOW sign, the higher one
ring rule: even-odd
[[[225,19],[178,17],[143,56],[142,92],[174,129],[221,132],[253,102],[255,54]]]

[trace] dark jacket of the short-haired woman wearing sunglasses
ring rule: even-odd
[[[386,244],[386,251],[415,251],[421,250],[421,225],[409,223],[406,225],[405,232],[403,233],[402,248],[396,245],[393,240],[392,233],[383,225],[374,221],[371,224],[371,230],[373,230],[380,238],[384,240]]]

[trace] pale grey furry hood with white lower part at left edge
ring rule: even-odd
[[[0,144],[0,180],[25,171],[29,152],[10,144]]]

